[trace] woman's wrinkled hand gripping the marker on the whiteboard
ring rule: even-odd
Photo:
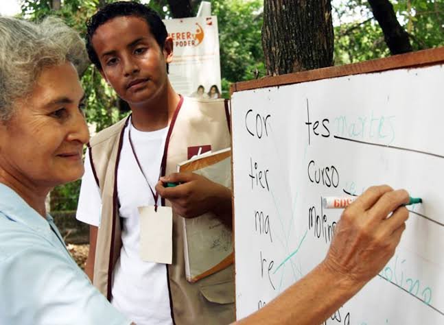
[[[323,266],[363,286],[395,254],[406,228],[408,210],[402,204],[407,202],[406,191],[390,186],[365,191],[342,213]]]

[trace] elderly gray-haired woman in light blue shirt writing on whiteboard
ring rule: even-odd
[[[84,172],[82,56],[82,40],[60,21],[0,17],[1,325],[130,324],[74,263],[45,210],[54,186]],[[407,201],[388,186],[366,191],[342,216],[325,260],[239,324],[323,322],[393,256]]]

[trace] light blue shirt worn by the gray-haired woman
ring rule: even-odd
[[[91,285],[44,219],[0,184],[0,325],[121,325],[130,320]]]

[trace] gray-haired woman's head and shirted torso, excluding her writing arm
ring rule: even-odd
[[[0,324],[130,324],[73,262],[45,197],[84,172],[77,33],[0,17]]]

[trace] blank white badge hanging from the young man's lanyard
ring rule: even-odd
[[[173,212],[170,206],[139,206],[140,257],[142,261],[171,264]]]

